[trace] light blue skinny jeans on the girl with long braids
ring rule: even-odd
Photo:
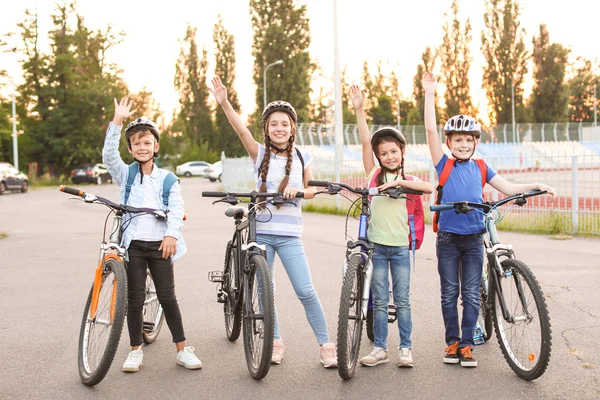
[[[304,306],[306,318],[312,327],[312,330],[317,337],[319,344],[329,343],[329,335],[327,334],[327,321],[323,307],[317,296],[317,292],[312,283],[310,270],[308,268],[308,260],[304,252],[302,241],[298,237],[280,236],[280,235],[257,235],[256,241],[259,244],[264,244],[267,249],[267,263],[273,277],[273,289],[275,289],[275,272],[273,270],[273,262],[275,253],[279,256],[285,272],[287,272],[290,282],[294,287],[296,296]],[[281,339],[279,331],[279,322],[277,319],[277,308],[275,308],[275,339]]]

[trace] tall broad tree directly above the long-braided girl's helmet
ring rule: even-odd
[[[258,105],[253,129],[256,136],[262,137],[263,72],[277,60],[283,60],[284,64],[267,72],[267,101],[288,101],[296,109],[299,122],[309,120],[310,77],[315,66],[308,52],[311,36],[306,13],[306,5],[297,6],[294,0],[250,0]]]

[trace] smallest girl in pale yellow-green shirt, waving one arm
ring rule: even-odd
[[[363,165],[370,182],[377,173],[377,188],[384,190],[402,186],[432,193],[433,186],[420,180],[406,180],[404,153],[406,140],[400,131],[392,127],[377,130],[370,137],[363,109],[364,95],[357,85],[350,87],[350,99],[356,110],[358,132],[362,143]],[[379,166],[375,164],[375,159]],[[410,313],[410,256],[408,252],[409,229],[405,199],[374,196],[371,200],[371,218],[367,236],[374,245],[373,276],[373,351],[361,358],[360,363],[369,367],[389,362],[388,334],[388,271],[392,274],[392,292],[398,314],[400,349],[398,367],[412,367],[412,319]]]

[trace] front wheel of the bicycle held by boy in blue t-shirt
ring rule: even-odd
[[[552,330],[548,307],[542,289],[525,263],[516,259],[501,262],[506,276],[500,279],[502,293],[493,297],[492,314],[496,337],[510,368],[522,379],[542,376],[550,361]],[[521,290],[519,290],[521,287]],[[530,316],[525,316],[520,295],[526,300]],[[502,316],[499,296],[503,296],[511,316],[526,318],[506,321]]]

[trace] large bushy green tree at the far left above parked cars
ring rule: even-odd
[[[73,27],[70,21],[74,20]],[[27,11],[17,26],[25,82],[19,87],[20,116],[25,134],[19,137],[20,159],[36,161],[38,173],[67,173],[76,165],[98,162],[104,142],[102,130],[112,118],[107,108],[126,85],[106,51],[121,34],[89,30],[73,4],[58,4],[49,32],[50,52],[39,46],[37,15]],[[25,111],[27,110],[27,111]]]

